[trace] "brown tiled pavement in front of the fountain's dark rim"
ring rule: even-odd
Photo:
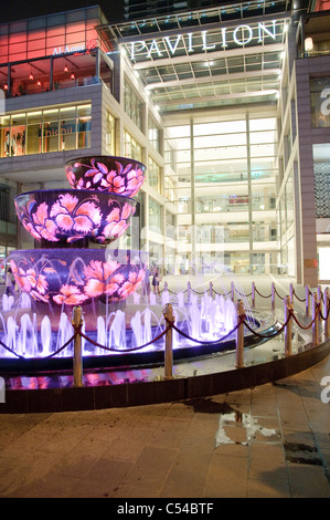
[[[330,498],[328,396],[329,357],[191,402],[0,415],[0,497]]]

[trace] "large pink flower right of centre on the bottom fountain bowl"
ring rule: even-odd
[[[124,281],[124,275],[116,272],[118,268],[120,268],[120,263],[115,261],[92,260],[84,268],[86,277],[85,293],[89,298],[95,298],[102,294],[110,295],[117,291]]]

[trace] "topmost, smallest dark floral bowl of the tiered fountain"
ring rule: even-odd
[[[74,189],[95,189],[134,197],[145,181],[146,166],[116,156],[82,157],[66,163],[66,178]]]

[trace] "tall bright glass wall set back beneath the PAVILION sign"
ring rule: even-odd
[[[178,210],[178,263],[195,272],[275,272],[277,118],[201,119],[167,127],[164,186]],[[267,264],[253,256],[258,245],[272,257]]]

